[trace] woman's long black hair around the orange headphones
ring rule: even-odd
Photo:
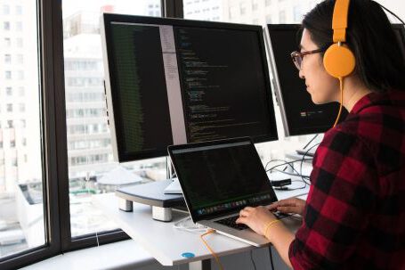
[[[317,4],[304,16],[303,28],[320,48],[333,44],[332,17],[335,0]],[[391,22],[372,0],[351,0],[347,45],[356,58],[354,73],[375,92],[405,91],[405,59]]]

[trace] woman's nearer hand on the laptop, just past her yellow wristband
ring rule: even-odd
[[[264,235],[265,226],[277,218],[266,207],[259,206],[256,208],[247,207],[240,210],[238,224],[248,225],[255,233]],[[265,235],[264,235],[265,236]]]

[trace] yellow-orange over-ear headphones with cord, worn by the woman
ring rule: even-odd
[[[344,45],[346,42],[349,5],[350,0],[336,0],[332,19],[334,44],[328,48],[323,57],[325,70],[327,70],[330,76],[338,78],[340,81],[340,109],[334,127],[336,126],[342,112],[344,77],[349,76],[356,66],[354,54],[346,45]]]

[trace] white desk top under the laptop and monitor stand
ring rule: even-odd
[[[293,183],[294,184],[294,183]],[[299,187],[300,183],[292,187]],[[309,187],[296,191],[277,191],[279,200],[307,193]],[[213,258],[209,250],[200,240],[200,232],[190,233],[174,228],[174,223],[187,214],[175,212],[172,222],[155,221],[151,218],[150,206],[134,203],[133,212],[118,209],[118,200],[114,193],[93,196],[95,206],[114,220],[117,225],[142,247],[150,252],[163,266],[190,264],[190,269],[210,269],[209,259]],[[301,224],[294,219],[283,219],[293,230]],[[255,249],[241,241],[233,240],[224,235],[214,233],[205,238],[218,256],[230,255]],[[194,258],[183,258],[182,253],[191,252]]]

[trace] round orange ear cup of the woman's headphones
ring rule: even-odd
[[[353,72],[356,59],[347,46],[334,44],[325,52],[323,65],[330,76],[344,78]]]

